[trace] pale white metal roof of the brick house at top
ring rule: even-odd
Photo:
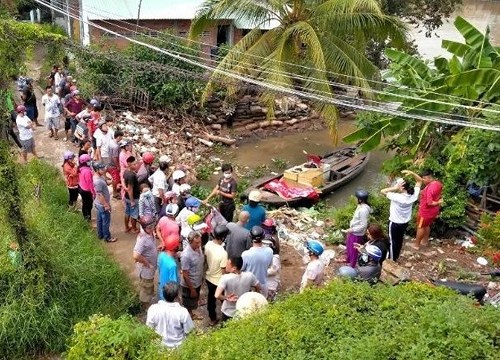
[[[137,19],[140,0],[81,0],[89,20]],[[141,20],[189,20],[205,0],[142,0]]]

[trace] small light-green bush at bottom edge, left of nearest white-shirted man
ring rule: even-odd
[[[165,358],[165,353],[156,332],[132,316],[112,320],[93,315],[75,325],[65,359],[159,360]]]

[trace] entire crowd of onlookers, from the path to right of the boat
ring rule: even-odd
[[[68,205],[91,221],[95,208],[99,239],[112,243],[112,198],[123,201],[123,227],[136,234],[133,260],[139,278],[139,298],[147,311],[147,325],[163,338],[166,346],[176,347],[200,319],[197,309],[206,287],[206,305],[211,326],[236,314],[238,299],[250,291],[273,301],[280,290],[280,245],[276,223],[260,205],[260,192],[251,191],[248,202],[237,214],[237,182],[231,164],[221,168],[222,177],[206,199],[191,195],[187,168],[174,167],[169,155],[156,159],[150,152],[136,154],[130,140],[115,129],[113,120],[102,116],[98,99],[81,99],[76,82],[55,66],[41,99],[48,136],[59,139],[64,123],[64,141],[78,147],[63,156],[62,172],[68,188]],[[22,89],[22,104],[7,96],[19,138],[11,135],[27,154],[37,156],[33,129],[38,109],[32,81]],[[421,176],[404,171],[415,181],[398,179],[382,189],[390,200],[389,236],[379,224],[370,224],[369,194],[358,190],[358,206],[346,234],[346,258],[338,274],[376,282],[386,258],[397,261],[403,246],[413,204],[420,197],[417,238],[419,249],[429,241],[430,226],[442,204],[442,184],[431,172]],[[422,184],[425,188],[421,190]],[[111,189],[111,190],[110,190]],[[218,207],[210,200],[218,197]],[[201,211],[202,208],[206,211]],[[208,212],[206,217],[202,213]],[[324,245],[316,240],[305,244],[308,262],[301,291],[320,286],[324,278],[321,255]],[[177,302],[178,297],[181,302]],[[219,301],[217,301],[219,300]],[[217,311],[220,302],[220,316]],[[181,305],[182,304],[182,305]]]

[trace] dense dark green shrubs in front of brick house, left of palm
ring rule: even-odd
[[[152,39],[138,40],[172,54],[196,58],[199,49],[173,37],[169,32]],[[153,107],[186,110],[198,101],[202,90],[202,69],[143,45],[131,43],[124,50],[104,44],[74,48],[79,59],[79,85],[86,95],[113,95],[130,98],[132,89],[149,93]]]

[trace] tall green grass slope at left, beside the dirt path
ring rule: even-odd
[[[19,170],[28,233],[28,242],[19,243],[19,266],[7,256],[16,241],[11,214],[0,211],[0,358],[9,359],[62,351],[77,322],[94,313],[117,316],[138,306],[104,244],[81,215],[68,211],[58,170],[37,161]]]

